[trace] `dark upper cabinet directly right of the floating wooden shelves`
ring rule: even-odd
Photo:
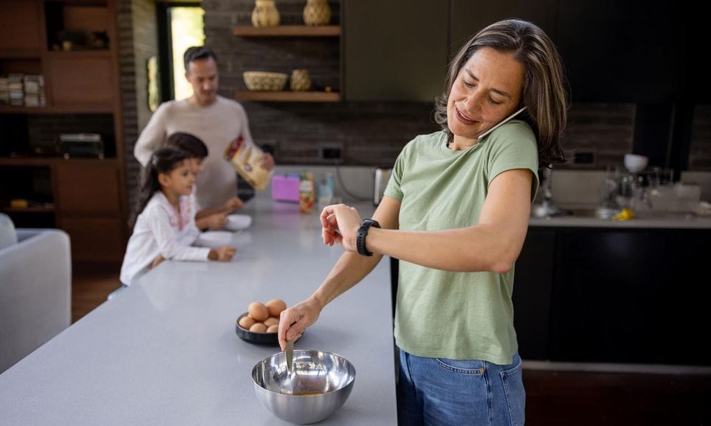
[[[343,8],[346,100],[434,102],[447,68],[447,4],[357,0]]]

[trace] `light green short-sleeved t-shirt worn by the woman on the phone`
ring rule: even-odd
[[[499,173],[533,173],[538,148],[524,121],[512,120],[463,151],[447,148],[443,131],[417,136],[392,169],[385,195],[400,200],[400,229],[439,231],[479,222],[488,185]],[[400,261],[395,342],[417,356],[482,359],[510,364],[518,350],[513,329],[513,268],[507,273],[450,272]]]

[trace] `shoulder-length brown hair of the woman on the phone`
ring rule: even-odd
[[[447,101],[459,71],[480,48],[511,53],[525,69],[521,118],[530,124],[538,142],[538,160],[542,165],[565,163],[560,135],[565,129],[569,105],[567,82],[560,55],[548,36],[533,23],[508,19],[476,33],[449,64],[444,92],[435,99],[434,119],[454,137],[447,126]]]

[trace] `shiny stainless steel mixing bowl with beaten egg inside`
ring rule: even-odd
[[[324,420],[346,402],[355,367],[332,352],[296,350],[289,377],[287,359],[279,352],[252,368],[252,381],[264,407],[282,420],[307,425]]]

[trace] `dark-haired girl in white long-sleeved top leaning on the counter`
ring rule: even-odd
[[[132,219],[134,231],[121,266],[121,283],[132,281],[156,266],[158,259],[229,261],[232,246],[192,247],[200,231],[195,226],[195,175],[188,153],[166,147],[151,156]]]

